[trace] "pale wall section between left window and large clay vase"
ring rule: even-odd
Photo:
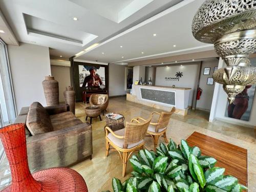
[[[42,81],[51,75],[49,48],[20,43],[7,49],[17,112],[34,101],[46,105]]]

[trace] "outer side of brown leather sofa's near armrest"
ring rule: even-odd
[[[81,123],[27,138],[31,172],[67,167],[92,155],[92,126]]]

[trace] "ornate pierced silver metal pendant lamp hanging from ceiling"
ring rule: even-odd
[[[256,1],[206,0],[192,24],[194,37],[214,44],[226,67],[213,78],[223,84],[229,103],[246,85],[256,84],[256,67],[250,67],[249,54],[256,51]]]

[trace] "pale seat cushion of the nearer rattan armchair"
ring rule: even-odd
[[[117,130],[115,131],[114,133],[116,135],[119,135],[119,136],[124,136],[124,132],[125,132],[125,128],[124,129],[121,129],[121,130]],[[108,139],[111,140],[115,145],[117,145],[118,147],[121,147],[123,148],[123,143],[124,143],[124,139],[119,139],[119,138],[116,138],[112,133],[109,133],[108,134]],[[141,141],[138,141],[136,143],[130,143],[130,144],[127,144],[127,148],[133,148],[139,144],[141,144],[144,140],[142,139]]]

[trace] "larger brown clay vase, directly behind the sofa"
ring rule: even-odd
[[[53,76],[46,76],[42,81],[47,106],[59,104],[59,82]]]

